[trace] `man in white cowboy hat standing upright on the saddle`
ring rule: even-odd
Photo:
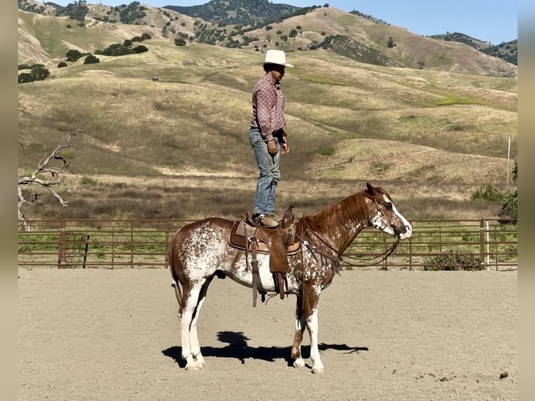
[[[284,94],[279,85],[285,67],[293,65],[286,63],[286,54],[282,50],[265,52],[265,75],[254,86],[253,120],[249,130],[249,141],[259,170],[252,217],[270,228],[279,225],[274,219],[279,161],[281,154],[290,152],[284,131]]]

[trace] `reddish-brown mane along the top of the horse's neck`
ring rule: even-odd
[[[349,223],[351,221],[367,221],[368,220],[368,206],[365,198],[377,200],[384,194],[388,196],[386,191],[380,187],[374,188],[374,194],[362,190],[356,194],[350,195],[347,198],[339,201],[335,205],[328,207],[321,212],[313,214],[312,216],[306,216],[302,219],[305,220],[307,225],[316,233],[325,231],[327,227],[339,227],[344,228],[347,231]],[[390,198],[390,196],[388,196]]]

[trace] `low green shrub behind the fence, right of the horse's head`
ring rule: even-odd
[[[484,270],[481,258],[467,248],[446,249],[444,253],[425,256],[423,270]]]

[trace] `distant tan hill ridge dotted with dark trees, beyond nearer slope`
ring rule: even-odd
[[[225,4],[217,1],[213,3],[214,6]],[[22,3],[22,6],[29,5],[33,6],[34,2],[24,0]],[[65,19],[66,17],[58,19],[26,13],[30,16],[20,18],[20,31],[29,35],[35,31],[34,36],[43,38],[43,51],[51,57],[61,57],[63,54],[59,50],[65,50],[64,47],[68,43],[75,46],[85,45],[87,52],[94,52],[98,45],[113,43],[86,43],[80,41],[79,36],[94,38],[109,34],[108,40],[122,41],[125,36],[121,36],[121,33],[143,29],[152,36],[167,38],[171,43],[179,39],[187,44],[207,43],[256,52],[262,52],[266,48],[278,48],[286,52],[329,50],[369,64],[499,77],[514,77],[518,71],[515,65],[480,52],[470,45],[423,37],[402,27],[374,22],[367,17],[345,13],[337,8],[303,9],[302,13],[293,17],[251,26],[224,25],[216,20],[207,22],[166,8],[147,7],[135,2],[115,8],[89,4],[87,8],[89,11],[81,26],[74,20]],[[20,15],[24,13],[20,11]],[[106,22],[119,20],[128,23]],[[67,40],[68,43],[61,43],[59,48],[47,38],[51,32],[47,28],[54,24],[57,24],[58,35],[72,39]],[[71,25],[71,28],[66,29],[67,24]],[[19,62],[35,62],[32,61],[36,59],[34,54],[36,53],[20,52]],[[494,55],[494,52],[491,54]]]

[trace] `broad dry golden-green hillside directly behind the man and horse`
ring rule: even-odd
[[[20,12],[20,41],[47,43],[53,60],[50,78],[19,85],[27,110],[20,169],[31,170],[69,131],[84,134],[69,150],[70,207],[43,196],[27,216],[240,217],[250,208],[257,172],[247,132],[261,52],[175,46],[151,27],[103,22],[74,37],[59,31],[63,24]],[[152,35],[148,52],[55,68],[74,43],[103,48],[143,32]],[[368,181],[411,219],[497,215],[499,205],[470,196],[487,184],[505,187],[517,78],[374,66],[327,51],[288,59],[296,66],[282,83],[291,154],[277,211],[293,203],[298,214],[316,212]]]

